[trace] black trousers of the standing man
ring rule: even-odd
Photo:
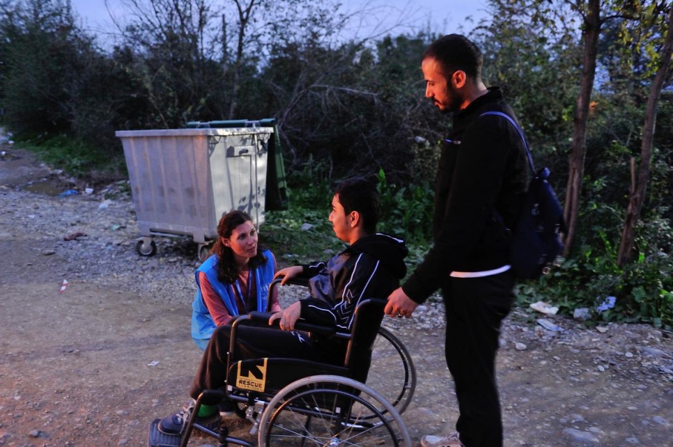
[[[465,447],[502,447],[502,415],[495,381],[495,354],[502,319],[515,295],[504,272],[444,282],[447,366],[456,384],[456,430]]]

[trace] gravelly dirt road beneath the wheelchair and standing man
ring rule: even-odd
[[[105,195],[26,191],[68,185],[12,154],[0,159],[0,446],[144,446],[150,421],[185,403],[200,358],[189,336],[196,250],[166,241],[140,258],[127,195],[104,207]],[[86,236],[63,240],[75,232]],[[416,441],[452,431],[457,416],[431,324],[440,306],[426,307],[426,320],[386,322],[419,373],[403,415]],[[670,334],[561,317],[565,330],[550,332],[531,312],[503,328],[506,446],[673,446]]]

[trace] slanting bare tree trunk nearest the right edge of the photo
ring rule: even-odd
[[[645,190],[647,189],[647,181],[649,180],[657,105],[661,89],[670,70],[671,55],[673,53],[673,7],[669,11],[667,26],[668,31],[661,54],[661,65],[654,77],[649,97],[647,98],[645,122],[642,130],[642,146],[640,148],[640,168],[638,169],[635,185],[631,188],[628,207],[626,207],[626,221],[624,222],[624,230],[621,232],[621,241],[619,242],[619,251],[617,252],[617,265],[619,267],[623,267],[633,253],[635,224],[637,224],[640,218],[642,202],[645,198]]]

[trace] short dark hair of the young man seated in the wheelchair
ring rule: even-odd
[[[376,224],[381,215],[381,201],[373,182],[364,178],[348,178],[336,185],[334,194],[346,214],[357,211],[362,219],[362,228],[367,233],[376,233]]]

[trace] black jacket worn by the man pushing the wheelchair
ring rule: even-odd
[[[454,114],[435,182],[434,244],[402,286],[422,303],[451,272],[484,272],[509,262],[509,235],[527,187],[527,156],[500,88]],[[518,121],[517,121],[518,122]],[[502,221],[496,218],[502,216]]]

